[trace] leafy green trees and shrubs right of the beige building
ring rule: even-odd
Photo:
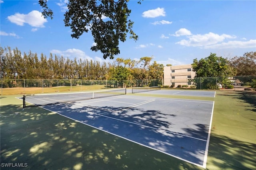
[[[222,86],[229,86],[229,79],[234,76],[243,84],[256,88],[256,52],[246,52],[242,57],[231,59],[211,53],[199,61],[194,59],[192,68],[196,72],[192,82],[198,89],[216,89],[216,77]]]

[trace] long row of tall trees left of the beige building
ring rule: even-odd
[[[1,79],[82,79],[82,80],[146,80],[162,79],[164,65],[153,57],[139,61],[117,58],[112,63],[88,59],[69,59],[43,53],[21,53],[16,47],[0,47]]]

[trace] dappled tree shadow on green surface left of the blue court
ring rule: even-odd
[[[1,170],[201,169],[39,107],[1,106]],[[15,169],[15,168],[13,168]]]

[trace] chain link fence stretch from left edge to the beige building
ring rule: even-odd
[[[1,79],[0,94],[39,94],[145,86],[163,86],[163,80]]]

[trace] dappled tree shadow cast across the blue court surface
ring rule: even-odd
[[[178,125],[179,121],[172,118],[177,115],[143,107],[125,109],[126,107],[94,106],[92,108],[76,104],[71,102],[43,107],[86,125],[203,166],[209,125],[203,125],[203,128],[198,127],[197,124],[193,124],[193,127]],[[99,115],[102,110],[104,114]],[[172,123],[170,119],[174,122]],[[196,129],[189,131],[181,127],[190,129],[196,127]],[[186,133],[182,133],[183,131]]]

